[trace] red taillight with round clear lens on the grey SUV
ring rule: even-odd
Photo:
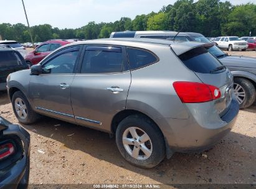
[[[204,83],[176,81],[173,87],[183,103],[204,103],[220,98],[219,88]]]

